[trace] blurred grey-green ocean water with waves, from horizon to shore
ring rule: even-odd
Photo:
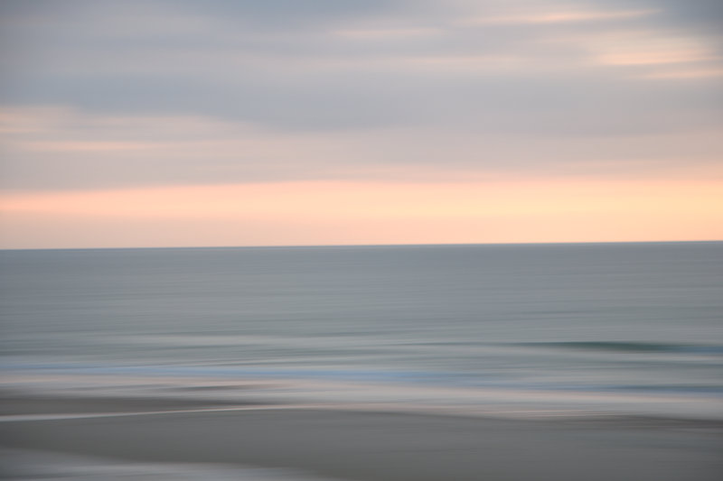
[[[5,388],[723,417],[723,243],[0,252]]]

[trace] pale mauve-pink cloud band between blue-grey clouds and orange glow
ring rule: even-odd
[[[514,116],[508,120],[512,122]],[[92,190],[291,180],[503,181],[720,176],[716,130],[583,136],[401,126],[278,131],[204,116],[0,110],[3,187]]]

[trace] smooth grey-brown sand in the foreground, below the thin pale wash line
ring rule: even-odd
[[[22,411],[18,402],[14,400],[12,412]],[[82,412],[83,402],[73,412]],[[162,402],[146,403],[158,407]],[[116,400],[118,404],[123,402]],[[164,407],[172,411],[179,406]],[[185,407],[199,406],[192,402]],[[0,441],[10,449],[290,467],[351,480],[713,481],[723,475],[721,429],[705,421],[511,421],[248,408],[152,414],[131,409],[121,417],[43,421],[5,418]]]

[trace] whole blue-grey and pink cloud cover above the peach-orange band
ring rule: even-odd
[[[713,2],[3,8],[8,189],[709,175],[721,153]]]

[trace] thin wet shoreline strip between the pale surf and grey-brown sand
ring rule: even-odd
[[[580,410],[489,409],[471,405],[409,402],[310,402],[278,399],[219,399],[216,397],[159,395],[79,395],[23,393],[0,390],[0,422],[51,421],[118,416],[147,416],[186,412],[235,412],[268,410],[320,410],[329,412],[378,412],[470,419],[539,421],[591,426],[634,426],[654,429],[703,429],[723,434],[723,419],[680,414],[642,414]]]

